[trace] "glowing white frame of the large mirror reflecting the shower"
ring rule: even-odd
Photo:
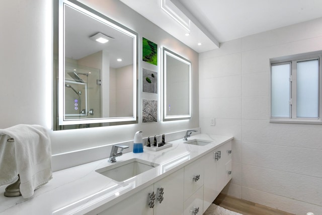
[[[100,14],[88,6],[74,0],[57,0],[58,5],[58,122],[59,125],[77,125],[116,122],[117,124],[137,123],[137,62],[138,62],[138,34],[133,30],[119,24],[118,22]],[[111,118],[90,118],[90,119],[65,119],[64,110],[64,80],[65,80],[65,53],[64,53],[64,7],[72,7],[110,27],[113,27],[133,38],[133,116],[111,117]],[[60,78],[62,77],[62,78]],[[54,120],[55,121],[55,120]],[[114,123],[115,124],[115,123]],[[54,125],[55,127],[56,125]]]

